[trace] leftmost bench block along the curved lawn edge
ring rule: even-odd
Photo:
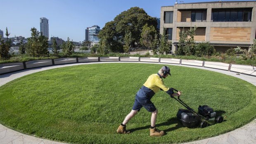
[[[22,62],[0,64],[0,74],[19,71],[23,69],[24,69],[24,66]]]

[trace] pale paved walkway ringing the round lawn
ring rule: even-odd
[[[92,62],[92,63],[66,64],[66,65],[58,65],[58,66],[47,66],[42,68],[33,68],[33,69],[17,71],[13,73],[7,73],[4,75],[0,75],[0,86],[16,78],[20,78],[22,76],[25,76],[31,73],[36,73],[38,71],[45,71],[48,69],[60,68],[65,66],[75,66],[75,65],[83,65],[83,64],[100,64],[100,63],[116,63],[116,62]],[[118,62],[118,63],[121,63],[121,62]],[[126,63],[126,62],[123,62],[123,63]],[[144,62],[140,62],[140,63],[144,63]],[[155,64],[186,66],[186,65],[163,64],[163,63],[155,63]],[[213,68],[203,68],[198,66],[186,66],[186,67],[200,68],[200,69],[206,69],[210,71],[216,71],[219,73],[224,73],[226,75],[230,75],[236,78],[240,78],[242,80],[246,80],[247,82],[252,83],[253,85],[256,86],[256,77],[254,76],[248,76],[244,74],[237,75],[237,73],[230,72],[230,71],[223,71],[223,70],[218,70]],[[37,137],[24,135],[20,132],[16,132],[0,124],[0,144],[65,144],[65,143],[54,142],[47,139],[40,139]],[[233,130],[223,135],[219,135],[216,137],[211,137],[211,138],[203,139],[199,141],[188,142],[185,144],[256,144],[256,119],[251,121],[251,123],[248,123],[247,125],[244,125],[243,127],[238,128],[237,130]]]

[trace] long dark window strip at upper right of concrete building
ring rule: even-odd
[[[213,9],[212,21],[251,21],[252,9]]]

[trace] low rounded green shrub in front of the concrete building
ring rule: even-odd
[[[210,42],[200,42],[195,49],[195,55],[201,56],[211,56],[215,53],[214,46]]]

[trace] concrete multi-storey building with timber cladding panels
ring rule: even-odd
[[[197,27],[194,40],[209,41],[219,51],[247,48],[256,39],[256,1],[177,2],[161,7],[160,33],[166,28],[172,51],[178,49],[179,32]]]

